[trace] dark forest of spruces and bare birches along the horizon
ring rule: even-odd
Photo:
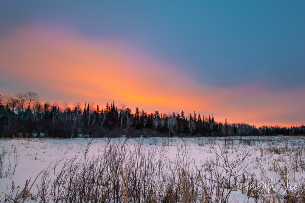
[[[0,95],[1,137],[60,137],[74,138],[117,137],[126,135],[153,136],[252,136],[252,135],[304,135],[305,127],[261,126],[245,123],[217,122],[213,114],[185,115],[180,113],[146,112],[131,109],[114,101],[104,107],[98,104],[68,103],[41,104],[37,93]]]

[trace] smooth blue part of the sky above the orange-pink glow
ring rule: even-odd
[[[65,29],[91,41],[124,42],[187,75],[179,82],[192,80],[205,95],[218,91],[219,99],[228,88],[233,93],[242,88],[242,97],[266,98],[267,106],[288,108],[284,117],[303,122],[300,101],[280,100],[285,95],[305,99],[304,10],[305,1],[1,1],[0,37],[34,24]],[[8,64],[0,68],[8,69]],[[3,92],[18,92],[2,72]],[[22,86],[26,84],[30,82]],[[231,102],[228,106],[235,108],[236,101]],[[298,108],[289,109],[292,105]]]

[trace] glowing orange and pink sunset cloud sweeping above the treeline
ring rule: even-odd
[[[0,44],[1,72],[9,84],[17,84],[11,94],[31,84],[36,89],[25,91],[36,91],[41,99],[54,102],[81,100],[103,106],[114,100],[132,110],[196,110],[201,116],[214,113],[218,121],[228,118],[229,122],[256,125],[292,124],[272,115],[293,111],[297,121],[304,121],[296,111],[299,103],[281,100],[282,93],[250,86],[203,86],[170,64],[118,40],[91,39],[56,27],[32,25],[0,36]]]

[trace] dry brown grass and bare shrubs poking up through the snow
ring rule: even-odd
[[[135,139],[134,147],[123,138],[109,139],[99,155],[89,156],[91,140],[82,153],[56,160],[41,173],[38,194],[30,193],[33,184],[29,186],[27,181],[23,189],[5,194],[5,199],[8,202],[30,199],[37,202],[231,202],[238,192],[249,202],[305,202],[303,143],[269,137],[219,140],[222,144],[217,145],[215,138],[198,139],[197,147],[211,146],[215,155],[201,167],[190,158],[189,144],[181,145],[171,139],[151,139],[148,146],[143,145],[143,139]],[[284,145],[286,142],[289,144]],[[169,160],[166,154],[173,146],[177,147],[177,156]],[[254,157],[255,151],[259,153]],[[260,170],[259,175],[249,172],[253,166]],[[275,179],[267,177],[269,173],[275,173]],[[261,187],[260,182],[270,187]]]

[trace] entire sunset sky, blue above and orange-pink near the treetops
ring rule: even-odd
[[[0,1],[0,94],[305,124],[304,9],[304,1]]]

